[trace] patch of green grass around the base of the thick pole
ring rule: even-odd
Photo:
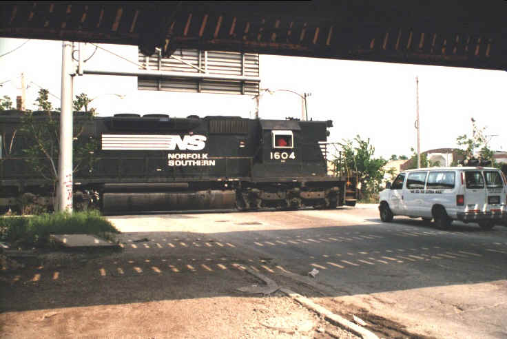
[[[50,244],[50,234],[94,234],[114,240],[118,233],[97,211],[0,218],[0,239],[14,246],[44,247]]]

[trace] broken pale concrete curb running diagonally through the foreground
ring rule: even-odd
[[[359,325],[355,325],[353,322],[346,320],[345,318],[338,316],[338,314],[333,314],[333,312],[329,311],[329,309],[326,309],[320,305],[315,304],[315,302],[311,301],[309,298],[305,298],[304,296],[301,296],[300,294],[297,294],[294,291],[291,291],[290,289],[287,289],[286,287],[278,287],[276,283],[271,280],[270,278],[267,278],[267,276],[264,276],[252,269],[246,268],[246,271],[262,280],[269,288],[276,288],[274,291],[279,290],[283,294],[289,296],[290,298],[296,300],[304,307],[307,307],[307,309],[310,309],[311,311],[314,311],[315,313],[318,313],[326,320],[331,322],[334,325],[337,325],[339,327],[342,327],[343,329],[346,329],[348,331],[351,331],[357,336],[360,336],[363,339],[379,339],[375,334],[364,327],[360,327]],[[260,290],[259,290],[260,291]],[[262,293],[260,291],[260,293]]]

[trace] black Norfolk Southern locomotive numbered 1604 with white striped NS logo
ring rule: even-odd
[[[51,208],[53,184],[25,162],[23,112],[0,114],[0,208]],[[58,119],[58,112],[56,114]],[[39,119],[47,114],[37,112]],[[82,115],[82,113],[81,113]],[[79,114],[74,113],[74,119]],[[327,175],[331,121],[115,114],[87,119],[96,141],[74,173],[74,205],[106,213],[355,205],[354,178]],[[41,159],[47,161],[47,159]],[[56,163],[56,159],[55,159]]]

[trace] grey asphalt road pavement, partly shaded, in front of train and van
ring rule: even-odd
[[[109,218],[123,232],[121,253],[87,259],[81,269],[60,263],[11,274],[9,289],[22,283],[24,293],[11,309],[43,309],[44,292],[83,279],[94,294],[61,305],[196,298],[234,305],[237,287],[258,284],[247,268],[348,320],[360,318],[379,337],[507,338],[507,227],[382,223],[376,205]],[[99,292],[104,287],[114,298]]]

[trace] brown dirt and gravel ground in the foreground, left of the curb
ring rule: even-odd
[[[262,282],[213,253],[43,254],[0,274],[2,338],[357,338],[279,292],[242,294]]]

